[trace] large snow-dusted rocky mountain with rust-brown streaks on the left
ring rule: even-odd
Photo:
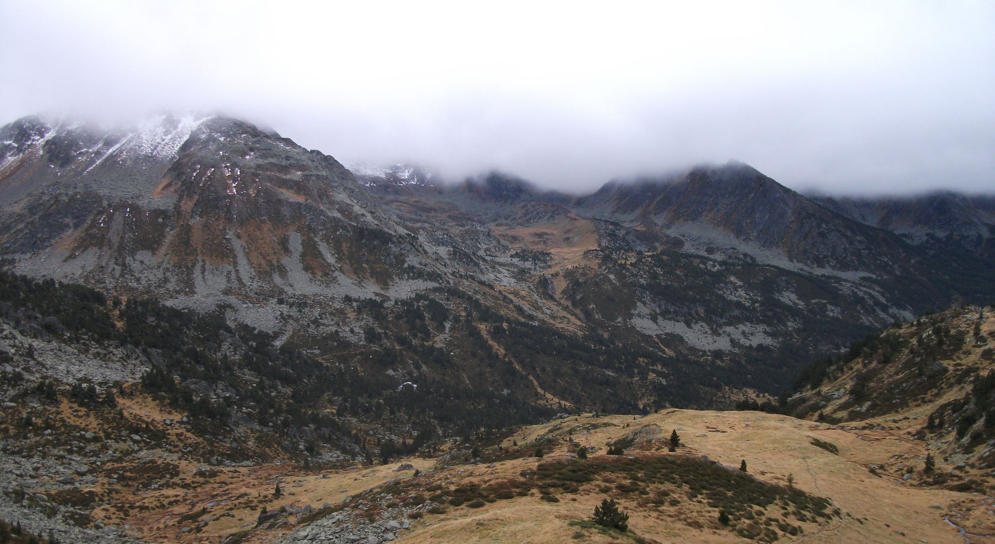
[[[19,270],[252,313],[328,283],[362,292],[407,265],[410,235],[334,159],[235,119],[158,122],[3,129],[0,245]],[[379,244],[360,254],[360,240]]]

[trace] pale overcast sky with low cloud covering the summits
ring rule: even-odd
[[[734,158],[995,193],[995,2],[0,0],[0,123],[164,108],[571,192]]]

